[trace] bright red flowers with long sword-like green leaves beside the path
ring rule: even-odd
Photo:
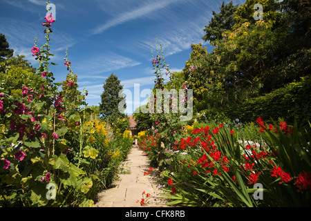
[[[172,199],[169,204],[307,206],[311,193],[310,141],[294,133],[298,128],[284,125],[281,122],[273,130],[263,127],[270,139],[256,144],[241,142],[232,129],[219,124],[189,126],[185,137],[171,148],[155,149],[157,139],[150,136],[140,139],[139,145],[149,157],[160,160],[162,177],[167,179],[162,180],[167,186],[163,189]],[[160,159],[161,153],[164,157]],[[263,185],[262,200],[252,196],[258,190],[255,184]]]

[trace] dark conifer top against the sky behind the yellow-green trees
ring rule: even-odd
[[[209,21],[209,25],[205,26],[204,31],[206,34],[202,37],[205,41],[215,41],[216,39],[223,39],[223,32],[231,30],[234,26],[234,12],[238,5],[234,6],[232,1],[227,5],[223,2],[220,7],[220,12],[217,14],[213,11],[214,17]]]

